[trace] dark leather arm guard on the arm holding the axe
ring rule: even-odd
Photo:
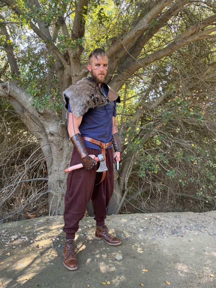
[[[80,158],[82,159],[81,163],[83,167],[86,170],[92,169],[95,166],[96,161],[89,156],[80,133],[73,135],[70,140],[73,143],[73,146],[75,147],[77,152],[79,153]]]

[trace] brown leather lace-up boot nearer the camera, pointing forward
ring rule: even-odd
[[[63,265],[68,270],[76,270],[78,268],[76,248],[77,246],[75,245],[74,239],[66,240],[63,250]]]

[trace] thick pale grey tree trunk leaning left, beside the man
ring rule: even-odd
[[[72,144],[67,139],[65,122],[52,110],[38,112],[32,97],[12,82],[0,85],[0,97],[6,98],[14,112],[40,143],[48,169],[49,213],[63,214],[67,174]]]

